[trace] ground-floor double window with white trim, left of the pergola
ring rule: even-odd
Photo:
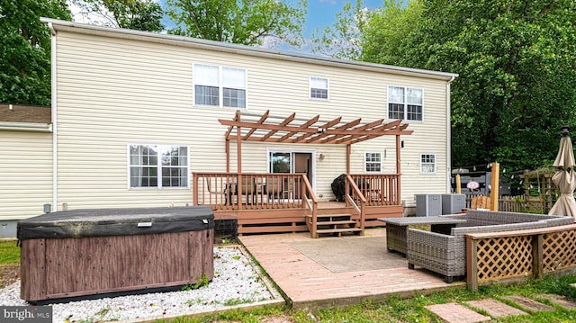
[[[188,147],[129,145],[130,188],[188,188]]]

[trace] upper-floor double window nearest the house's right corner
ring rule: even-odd
[[[419,88],[388,86],[388,119],[422,121],[423,94]]]

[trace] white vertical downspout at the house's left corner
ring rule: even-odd
[[[50,38],[50,77],[51,77],[51,102],[52,102],[52,210],[58,211],[58,107],[56,89],[56,31],[52,22],[48,22],[51,33]]]

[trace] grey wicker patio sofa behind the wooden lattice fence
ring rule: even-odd
[[[466,274],[466,244],[464,235],[478,232],[497,232],[538,229],[572,224],[572,217],[502,211],[469,210],[464,215],[447,215],[466,222],[458,224],[450,235],[408,229],[406,232],[408,267],[419,265],[445,276],[446,283]]]

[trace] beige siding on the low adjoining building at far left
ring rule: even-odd
[[[52,134],[1,131],[0,220],[22,220],[52,203]]]

